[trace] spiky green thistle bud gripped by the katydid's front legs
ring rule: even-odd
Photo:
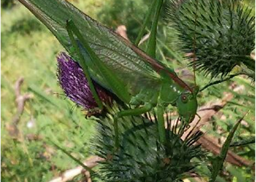
[[[196,133],[183,141],[180,138],[183,129],[166,130],[167,144],[161,146],[155,117],[120,118],[120,147],[115,150],[113,116],[121,110],[123,109],[113,105],[108,115],[100,118],[93,146],[96,154],[106,161],[101,162],[99,170],[94,174],[98,179],[105,182],[175,182],[181,181],[195,170],[198,163],[191,160],[202,157],[203,152],[198,145],[193,144],[201,134]]]

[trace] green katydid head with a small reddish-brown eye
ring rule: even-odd
[[[197,111],[197,99],[194,93],[182,93],[176,100],[176,106],[181,120],[190,123],[194,120]]]

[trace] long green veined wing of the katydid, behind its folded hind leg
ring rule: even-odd
[[[121,36],[96,22],[72,4],[65,0],[19,0],[38,19],[40,19],[59,42],[65,47],[69,54],[76,60],[70,38],[66,30],[66,21],[72,20],[84,39],[97,56],[127,83],[131,92],[137,90],[137,86],[154,88],[160,83],[159,74],[141,55],[131,48]],[[77,40],[79,42],[79,40]],[[102,86],[110,89],[104,78],[94,69],[93,60],[80,44],[83,56],[86,58],[90,68],[91,77]],[[137,92],[137,91],[136,91]]]

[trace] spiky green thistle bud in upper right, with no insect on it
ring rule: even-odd
[[[255,47],[255,17],[237,0],[170,0],[167,21],[178,31],[183,51],[195,56],[195,68],[226,76],[245,64],[255,71],[250,58]]]

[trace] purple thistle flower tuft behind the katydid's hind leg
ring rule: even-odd
[[[79,64],[64,52],[57,56],[57,61],[57,77],[59,79],[59,84],[67,97],[84,109],[93,109],[97,107],[97,103],[92,96],[87,79]],[[101,101],[110,103],[110,97],[106,93],[106,90],[95,82],[93,82],[93,84]]]

